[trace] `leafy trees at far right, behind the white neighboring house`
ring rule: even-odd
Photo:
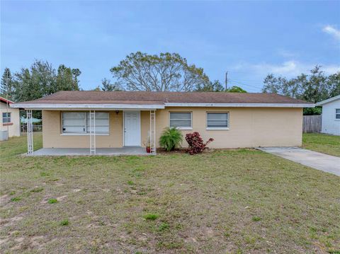
[[[327,76],[319,65],[310,70],[310,74],[300,74],[293,79],[268,74],[263,83],[263,93],[279,93],[310,103],[318,103],[340,94],[340,72]],[[320,111],[318,108],[305,109],[304,113],[313,114]]]

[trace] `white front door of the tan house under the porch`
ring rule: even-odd
[[[140,146],[140,111],[124,111],[124,146]]]

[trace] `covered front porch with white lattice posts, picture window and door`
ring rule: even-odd
[[[118,156],[157,153],[155,110],[42,110],[43,148],[37,151],[33,149],[32,110],[27,110],[27,118],[28,155]]]

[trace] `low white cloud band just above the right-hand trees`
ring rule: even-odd
[[[236,66],[238,70],[248,70],[249,73],[258,74],[259,76],[265,76],[266,74],[275,74],[277,76],[293,77],[302,73],[308,74],[316,64],[306,64],[290,60],[281,64],[239,64]],[[322,71],[325,74],[334,74],[340,71],[340,65],[335,64],[320,64],[322,65]]]

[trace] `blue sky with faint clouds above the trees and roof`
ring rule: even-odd
[[[340,1],[1,1],[1,73],[43,59],[79,68],[87,90],[136,51],[259,92],[268,73],[340,70]]]

